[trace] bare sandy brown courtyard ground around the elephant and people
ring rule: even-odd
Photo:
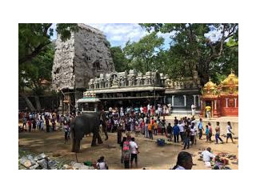
[[[134,134],[132,134],[134,136]],[[105,136],[102,134],[102,140]],[[138,154],[138,170],[143,167],[150,170],[167,170],[173,167],[177,161],[178,153],[182,151],[182,144],[170,143],[166,146],[157,146],[155,140],[157,138],[166,137],[162,135],[154,136],[154,140],[144,138],[142,134],[135,137],[135,141],[138,143],[140,154]],[[226,144],[226,138],[222,138],[225,141],[224,144],[214,144],[206,142],[206,136],[203,135],[203,140],[197,141],[197,145],[190,147],[186,150],[193,154],[193,162],[196,164],[192,167],[193,170],[207,170],[203,165],[203,162],[198,161],[198,149],[206,148],[210,146],[214,152],[217,154],[219,152],[227,152],[231,154],[236,154],[238,157],[238,140],[234,140],[235,144]],[[103,144],[91,147],[92,137],[85,137],[82,139],[81,153],[78,153],[78,162],[92,161],[95,162],[100,156],[105,156],[106,162],[111,170],[123,170],[124,166],[120,161],[121,158],[121,148],[117,143],[116,134],[109,134],[109,140],[104,141]],[[212,137],[214,140],[214,136]],[[167,140],[167,139],[166,139]],[[19,148],[30,150],[36,154],[45,153],[50,156],[60,155],[58,158],[62,158],[66,161],[76,161],[75,154],[70,152],[71,141],[64,144],[64,134],[62,131],[57,132],[36,132],[28,133],[23,132],[18,134]],[[230,161],[230,168],[238,170],[238,165],[234,165]]]

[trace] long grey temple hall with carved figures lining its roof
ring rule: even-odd
[[[112,72],[100,74],[91,78],[89,89],[85,95],[92,94],[98,98],[101,107],[107,110],[110,106],[152,106],[170,104],[174,114],[190,114],[191,105],[196,106],[200,113],[199,79],[197,74],[192,78],[172,81],[167,75],[158,71],[148,71],[146,74],[130,70],[129,73]],[[77,107],[84,108],[79,100]]]

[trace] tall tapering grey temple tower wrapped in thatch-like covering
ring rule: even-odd
[[[114,71],[110,47],[102,31],[78,24],[79,30],[62,42],[58,36],[52,69],[52,86],[62,92],[59,110],[71,112],[88,88],[90,78]]]

